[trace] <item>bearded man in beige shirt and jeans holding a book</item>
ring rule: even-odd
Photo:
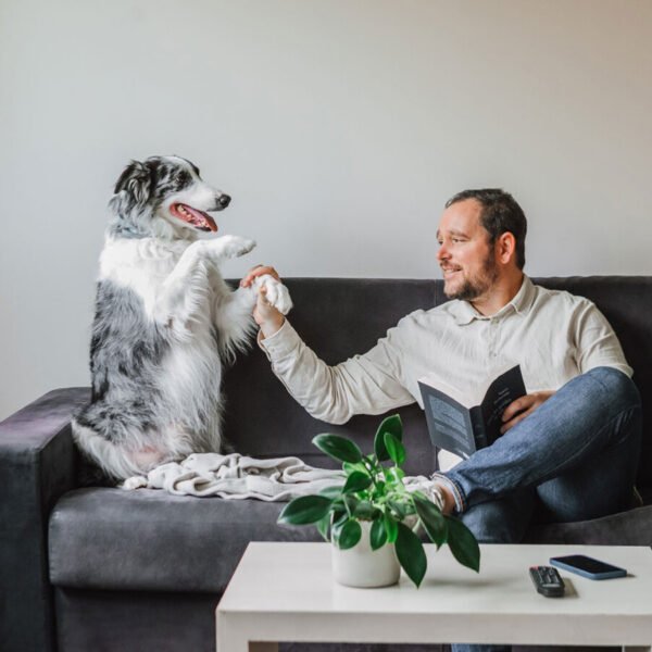
[[[417,379],[464,387],[521,364],[527,396],[503,413],[503,436],[468,460],[440,453],[432,498],[480,541],[517,542],[535,506],[557,522],[626,509],[641,437],[640,397],[620,344],[580,297],[523,273],[527,223],[502,190],[466,190],[446,204],[437,239],[452,301],[418,310],[363,355],[329,367],[259,297],[259,341],[274,373],[313,416],[343,423],[414,401]],[[275,274],[256,267],[242,280]]]

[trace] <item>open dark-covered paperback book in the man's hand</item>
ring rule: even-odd
[[[526,394],[519,365],[503,369],[494,380],[464,390],[430,376],[421,378],[418,386],[430,441],[465,459],[500,437],[504,409]]]

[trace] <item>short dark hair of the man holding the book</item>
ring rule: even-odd
[[[527,220],[516,200],[500,188],[482,188],[480,190],[462,190],[446,202],[446,208],[460,201],[475,199],[482,206],[480,224],[489,234],[489,243],[493,244],[502,234],[510,231],[516,240],[516,264],[519,269],[525,266],[525,235]]]

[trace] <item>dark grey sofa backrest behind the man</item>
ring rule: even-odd
[[[643,454],[639,485],[652,485],[652,277],[534,279],[551,289],[592,300],[616,330],[643,399]],[[371,349],[388,328],[417,309],[444,302],[441,280],[289,278],[292,325],[316,354],[337,364]],[[336,466],[311,439],[318,432],[352,436],[371,452],[379,416],[355,416],[342,426],[312,418],[290,398],[254,346],[225,375],[225,435],[238,452],[254,456],[298,455],[315,466]],[[409,474],[436,468],[421,409],[398,411],[403,419]]]

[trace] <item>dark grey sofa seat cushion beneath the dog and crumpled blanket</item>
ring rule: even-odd
[[[77,589],[221,593],[250,541],[321,540],[312,526],[277,525],[285,504],[148,489],[71,491],[50,517],[50,580]]]

